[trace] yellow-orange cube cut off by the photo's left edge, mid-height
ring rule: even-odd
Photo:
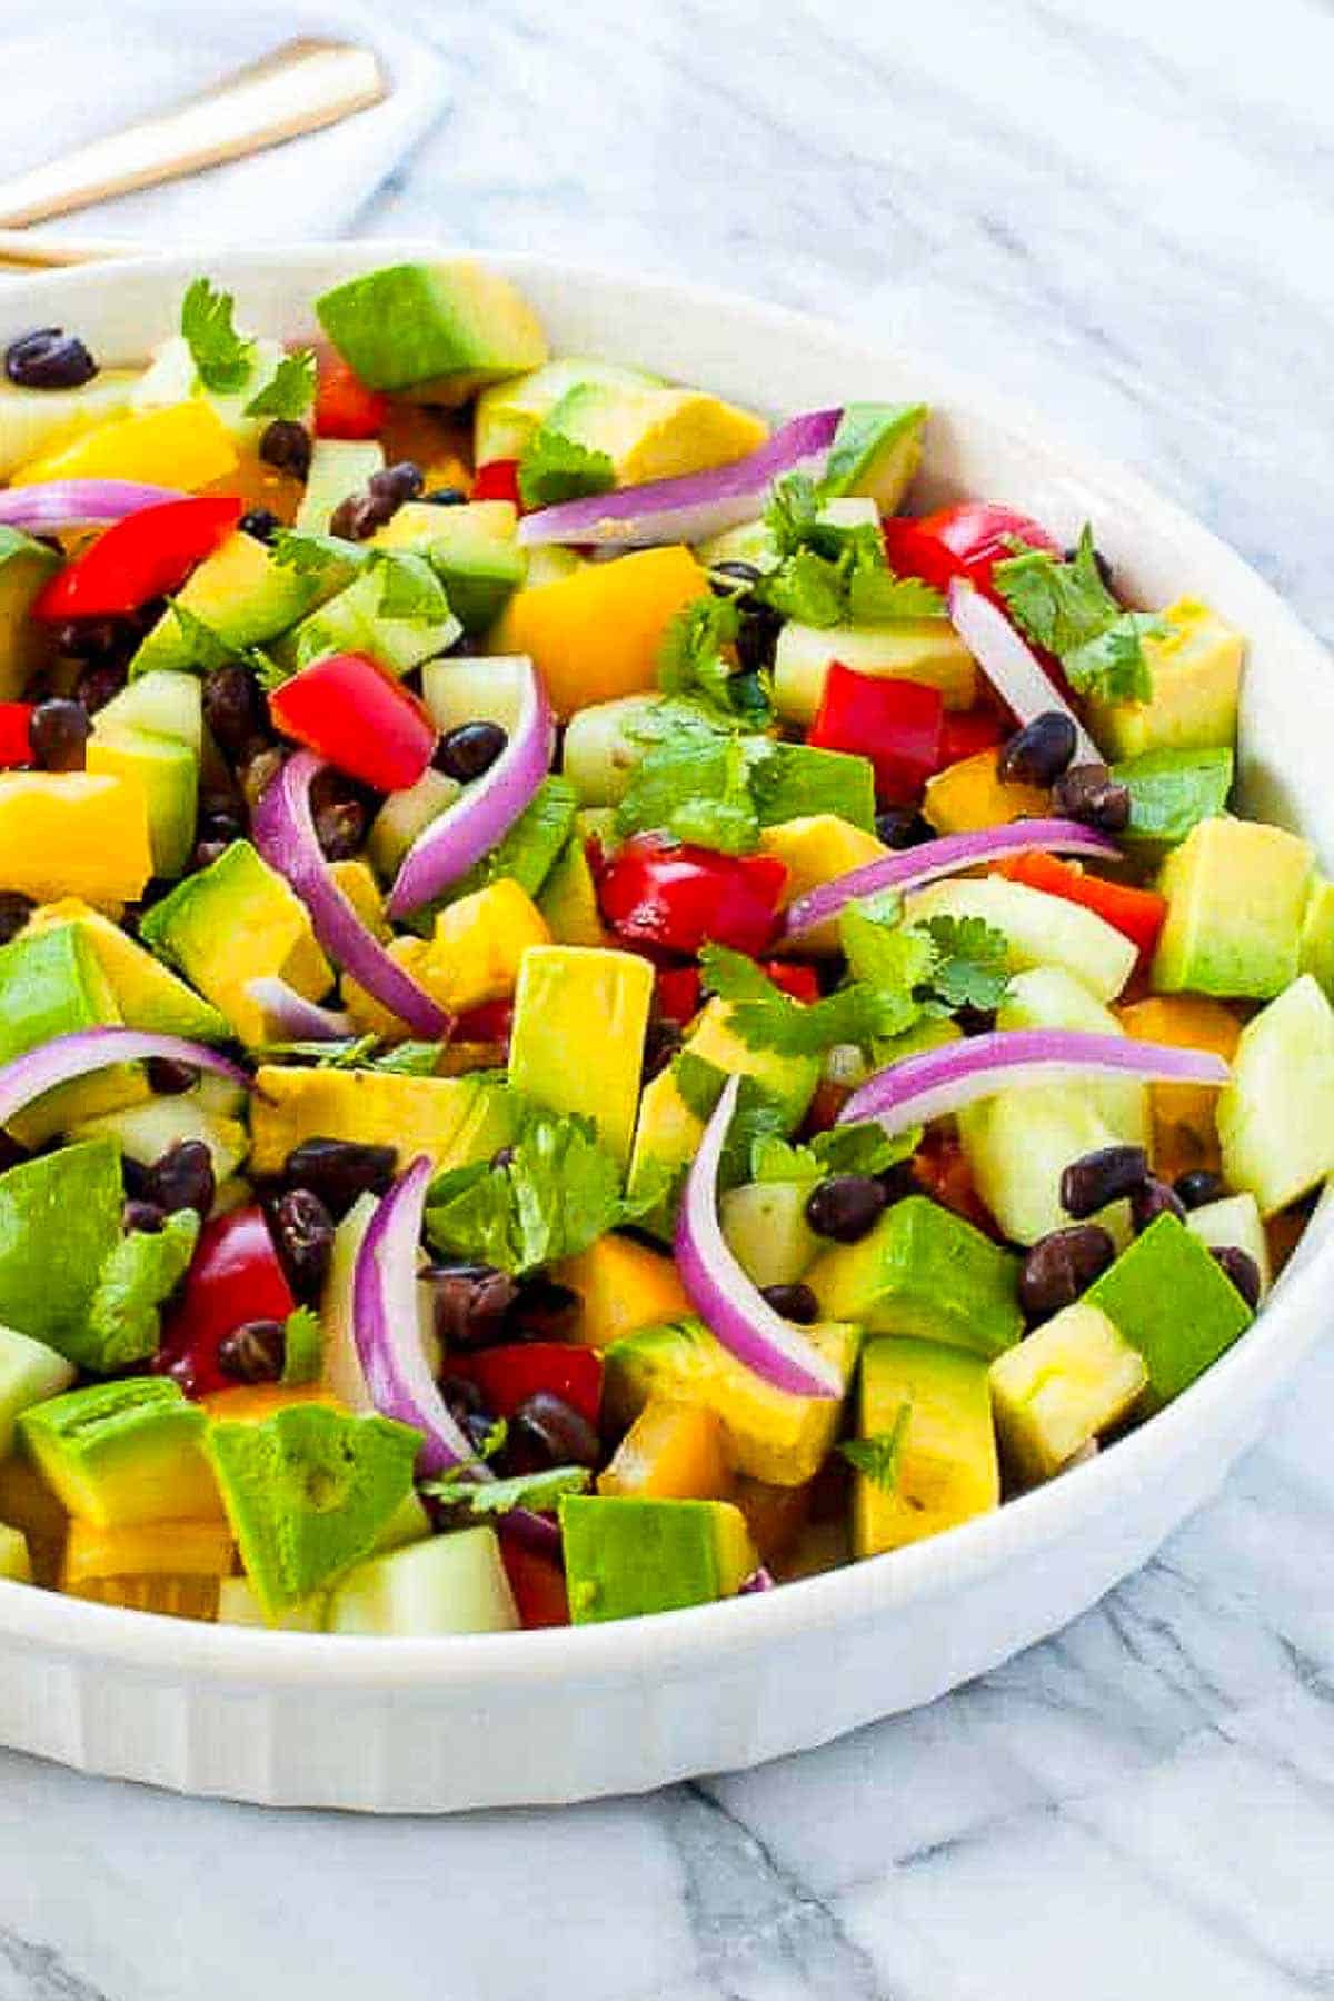
[[[152,874],[144,790],[86,770],[0,774],[0,888],[34,902],[134,902]]]

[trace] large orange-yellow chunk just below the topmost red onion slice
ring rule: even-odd
[[[554,584],[516,590],[490,650],[530,654],[564,722],[590,702],[656,688],[668,624],[706,596],[708,574],[688,548],[642,548],[590,562]]]

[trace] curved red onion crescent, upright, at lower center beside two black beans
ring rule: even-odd
[[[842,1397],[840,1371],[746,1277],[718,1223],[718,1163],[736,1113],[730,1077],[686,1179],[676,1223],[676,1265],[690,1305],[740,1363],[792,1397]]]

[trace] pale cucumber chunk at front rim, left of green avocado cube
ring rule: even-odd
[[[514,1593],[494,1529],[460,1529],[368,1557],[334,1585],[326,1631],[426,1639],[432,1633],[514,1633]]]

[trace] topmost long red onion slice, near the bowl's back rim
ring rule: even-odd
[[[736,528],[764,512],[768,490],[786,472],[820,478],[830,456],[842,410],[808,410],[774,432],[756,452],[734,458],[712,472],[684,472],[672,480],[648,480],[588,500],[524,514],[518,538],[536,542],[618,542],[638,548],[648,542],[704,542],[710,534]]]

